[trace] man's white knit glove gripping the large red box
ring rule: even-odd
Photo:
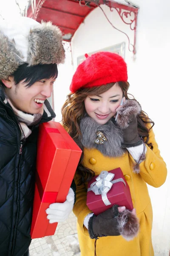
[[[74,206],[74,191],[69,189],[66,201],[64,203],[50,204],[49,208],[46,209],[47,218],[50,223],[62,222],[68,218],[68,215],[72,211]]]

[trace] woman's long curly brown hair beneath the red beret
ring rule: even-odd
[[[80,131],[80,120],[85,115],[85,104],[84,100],[89,95],[100,95],[102,93],[105,93],[107,90],[109,90],[115,83],[110,83],[107,85],[102,86],[95,86],[91,88],[80,88],[77,90],[76,93],[70,93],[67,96],[67,99],[62,106],[62,123],[68,132],[70,136],[75,140],[77,145],[82,149],[83,152],[83,146],[79,140],[79,137],[82,136]],[[123,91],[123,95],[126,99],[130,99],[127,95],[127,90],[129,88],[129,83],[120,81],[116,84],[119,85],[119,87]],[[131,95],[132,96],[132,95]],[[133,96],[132,96],[133,97]],[[133,97],[134,99],[134,97]],[[149,141],[149,131],[153,127],[154,122],[147,116],[147,114],[144,111],[141,111],[141,113],[137,116],[138,121],[138,133],[139,136],[141,136],[144,140],[144,142],[153,149],[152,143],[148,144]],[[147,124],[152,124],[149,128]],[[82,165],[84,154],[82,153],[82,156],[79,161],[79,165],[77,167],[77,173],[81,175],[82,180],[79,184],[82,184],[86,181],[91,180],[91,178],[94,176],[94,172],[91,169],[88,169],[87,167]]]

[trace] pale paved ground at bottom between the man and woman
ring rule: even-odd
[[[74,213],[58,224],[54,236],[33,239],[29,252],[30,256],[80,256]]]

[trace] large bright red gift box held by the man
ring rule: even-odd
[[[39,125],[32,239],[54,235],[57,223],[49,223],[45,210],[52,203],[65,202],[81,154],[60,123]]]

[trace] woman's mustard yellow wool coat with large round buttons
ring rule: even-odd
[[[84,165],[99,175],[103,170],[110,171],[120,167],[130,187],[133,207],[139,218],[139,234],[132,241],[126,241],[122,236],[100,237],[96,241],[97,256],[153,256],[151,241],[152,206],[147,190],[147,184],[154,187],[161,186],[167,176],[167,168],[160,156],[153,130],[150,131],[150,140],[153,150],[147,145],[146,159],[140,163],[140,173],[133,172],[136,163],[126,150],[122,157],[106,157],[97,149],[84,149]],[[79,181],[75,175],[76,184]],[[147,183],[147,184],[146,184]],[[94,256],[94,241],[83,225],[85,216],[91,212],[86,206],[87,184],[77,185],[77,201],[74,205],[74,214],[77,216],[77,231],[81,256]]]

